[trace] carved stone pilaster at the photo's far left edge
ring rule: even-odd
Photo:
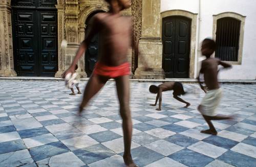
[[[11,1],[0,1],[0,77],[17,76],[13,64]]]

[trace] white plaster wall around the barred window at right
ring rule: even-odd
[[[213,16],[223,12],[234,12],[246,16],[244,30],[244,45],[241,65],[233,65],[230,70],[220,73],[221,79],[256,79],[256,1],[255,0],[161,0],[161,12],[168,10],[186,10],[201,14],[199,39],[200,43],[206,37],[212,37]],[[201,11],[201,12],[199,12]],[[198,21],[199,23],[199,21]],[[199,25],[197,26],[199,28]],[[198,47],[200,49],[200,45]],[[196,57],[201,60],[200,52]],[[197,59],[196,59],[197,61]],[[200,63],[195,63],[200,68]],[[195,69],[198,71],[198,69]],[[197,72],[196,72],[197,73]]]

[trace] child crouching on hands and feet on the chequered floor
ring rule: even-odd
[[[186,108],[188,106],[190,106],[190,103],[184,101],[183,99],[179,98],[178,96],[184,95],[186,92],[183,89],[183,85],[180,82],[164,82],[161,85],[151,85],[150,86],[150,92],[151,93],[157,93],[157,97],[156,97],[156,103],[155,104],[151,104],[151,106],[156,106],[157,105],[157,101],[159,99],[159,107],[156,109],[158,111],[161,111],[161,106],[162,106],[162,92],[163,91],[168,91],[168,90],[173,90],[173,95],[174,95],[174,99],[185,103],[186,104]]]

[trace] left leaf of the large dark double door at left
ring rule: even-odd
[[[35,11],[32,10],[13,11],[15,69],[19,76],[37,75],[34,16]]]

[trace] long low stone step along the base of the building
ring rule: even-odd
[[[62,78],[55,77],[0,77],[0,81],[63,81]],[[89,78],[81,78],[81,81],[88,81]],[[111,79],[110,81],[114,81]],[[130,81],[135,82],[183,82],[183,83],[197,83],[197,79],[189,79],[189,78],[167,78],[167,79],[130,79]],[[228,80],[222,79],[219,80],[220,83],[226,84],[256,84],[256,80]]]

